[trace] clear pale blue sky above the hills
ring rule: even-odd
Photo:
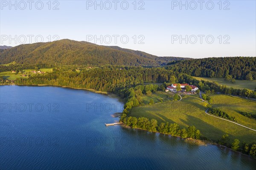
[[[95,6],[94,0],[51,1],[50,10],[49,0],[42,1],[44,6],[41,10],[41,3],[37,0],[31,4],[31,10],[26,0],[23,1],[26,8],[20,1],[12,1],[12,4],[15,2],[16,5],[10,6],[9,0],[1,0],[1,45],[30,43],[29,35],[34,36],[32,43],[35,43],[35,36],[41,36],[47,42],[49,35],[51,40],[56,39],[53,36],[57,35],[58,39],[87,40],[99,45],[120,46],[158,56],[256,56],[255,0],[229,0],[221,3],[213,0],[213,8],[209,1],[204,1],[202,6],[198,0],[194,1],[196,8],[195,3],[182,1],[183,4],[187,3],[187,9],[186,6],[180,6],[180,0],[144,0],[136,1],[136,10],[134,0],[119,0],[116,9],[112,0],[97,1],[98,4],[102,3],[102,9],[101,6]],[[129,7],[124,10],[126,2]],[[112,7],[108,10],[109,4]],[[52,10],[54,6],[58,10]],[[140,6],[144,9],[138,10]],[[202,42],[198,35],[202,35]],[[92,40],[89,39],[91,36]],[[95,36],[99,40],[95,41]],[[116,37],[116,42],[114,36],[119,36]],[[184,38],[181,43],[180,36]],[[10,37],[14,38],[11,42]],[[129,38],[127,43],[126,37]],[[139,43],[140,40],[142,43]],[[38,41],[41,41],[39,37]]]

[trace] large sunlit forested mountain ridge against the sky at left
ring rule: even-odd
[[[0,52],[0,64],[15,61],[29,64],[162,66],[174,60],[177,58],[160,58],[144,52],[125,51],[121,48],[114,49],[68,39],[49,43],[24,44]]]

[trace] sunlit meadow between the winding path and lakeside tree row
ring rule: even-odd
[[[250,107],[253,107],[253,104],[255,106],[255,103],[251,104]],[[158,123],[177,123],[180,124],[180,127],[194,125],[203,136],[215,141],[220,139],[224,133],[229,134],[231,141],[235,138],[248,143],[256,141],[256,132],[205,114],[205,105],[205,102],[201,102],[198,95],[186,95],[177,103],[135,107],[131,110],[131,116],[155,118]],[[251,127],[253,127],[253,124],[251,124]]]

